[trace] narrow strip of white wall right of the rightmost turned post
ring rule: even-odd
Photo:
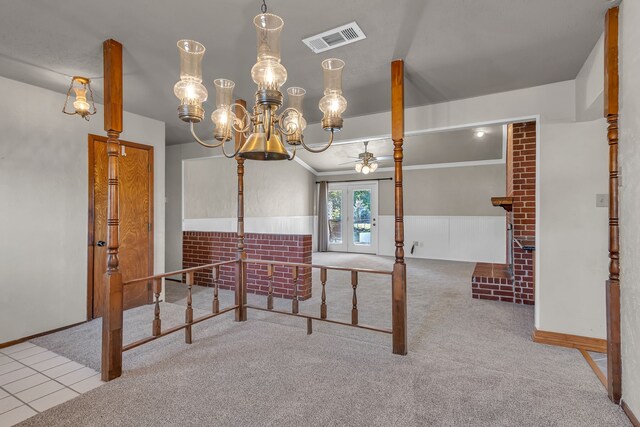
[[[640,417],[640,3],[620,11],[622,399]]]

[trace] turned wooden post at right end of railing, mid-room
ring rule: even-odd
[[[407,354],[407,266],[404,263],[404,206],[402,194],[402,142],[404,140],[404,61],[391,63],[391,139],[395,162],[396,262],[391,288],[393,353]]]

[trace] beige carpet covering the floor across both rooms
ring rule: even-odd
[[[393,260],[317,254],[314,262],[390,269]],[[256,311],[194,327],[125,353],[124,375],[24,425],[625,426],[576,350],[531,342],[532,307],[470,296],[473,264],[408,261],[409,355],[391,337]],[[301,311],[319,313],[319,282]],[[198,288],[199,314],[211,289]],[[348,273],[327,284],[329,316],[350,319]],[[362,276],[360,321],[390,326],[390,279]],[[222,295],[223,304],[232,300]],[[251,303],[265,304],[250,296]],[[163,327],[183,320],[184,287],[167,286]],[[290,308],[289,301],[278,301]],[[153,309],[125,316],[126,341],[148,334]],[[34,340],[99,368],[100,321]]]

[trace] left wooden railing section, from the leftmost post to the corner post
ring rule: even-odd
[[[127,350],[131,350],[132,348],[136,348],[141,346],[142,344],[146,344],[148,342],[154,341],[160,337],[164,337],[166,335],[172,334],[174,332],[178,332],[184,329],[184,340],[187,344],[191,344],[193,340],[192,336],[192,326],[196,323],[200,323],[204,320],[211,319],[212,317],[219,316],[224,313],[228,313],[238,308],[237,305],[232,305],[230,307],[226,307],[220,310],[220,301],[218,300],[218,278],[220,277],[220,267],[223,265],[229,264],[238,264],[238,260],[232,261],[223,261],[216,262],[213,264],[205,264],[199,265],[197,267],[185,268],[183,270],[171,271],[169,273],[156,274],[154,276],[141,277],[139,279],[129,280],[124,282],[123,286],[133,285],[134,283],[140,282],[151,282],[152,291],[154,297],[154,310],[153,310],[153,322],[151,324],[151,336],[146,338],[139,339],[132,343],[126,344],[122,347],[122,351],[125,352]],[[193,318],[193,285],[194,285],[194,273],[196,271],[202,270],[213,270],[213,301],[212,301],[212,310],[210,314],[198,317],[196,319]],[[170,276],[178,276],[185,275],[185,283],[187,285],[187,308],[185,309],[185,321],[177,326],[173,326],[169,329],[162,330],[162,319],[160,317],[160,294],[162,293],[162,282],[165,277]]]

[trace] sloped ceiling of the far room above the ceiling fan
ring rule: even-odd
[[[476,130],[485,135],[478,138]],[[393,142],[378,139],[369,142],[368,151],[377,157],[393,156]],[[482,126],[441,132],[427,132],[404,138],[404,166],[458,163],[502,158],[502,125]],[[341,143],[320,154],[298,151],[297,156],[317,172],[351,172],[355,159],[364,151],[362,142]],[[346,163],[346,164],[345,164]],[[393,166],[393,159],[379,161],[379,167]]]

